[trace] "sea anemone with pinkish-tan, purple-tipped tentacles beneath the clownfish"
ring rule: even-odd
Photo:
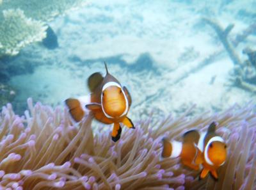
[[[24,116],[11,104],[0,116],[0,189],[255,189],[256,115],[254,106],[237,105],[223,113],[189,118],[168,116],[125,129],[116,143],[111,128],[92,127],[92,116],[74,124],[67,110],[33,106]],[[218,134],[227,140],[228,159],[218,170],[219,180],[198,180],[179,159],[161,159],[161,139],[180,139],[189,129],[205,130],[218,122]],[[94,125],[94,124],[93,124]],[[94,134],[94,135],[93,135]]]

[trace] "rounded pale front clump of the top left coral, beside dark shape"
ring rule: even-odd
[[[20,9],[4,10],[0,26],[0,56],[16,55],[22,47],[45,38],[46,27],[29,19]]]

